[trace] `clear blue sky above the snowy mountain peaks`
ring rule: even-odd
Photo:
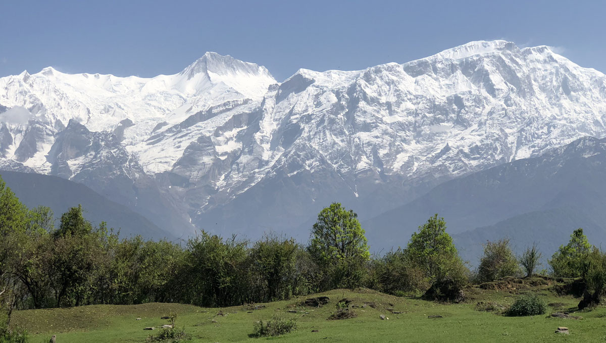
[[[265,65],[355,70],[469,41],[550,45],[606,72],[606,1],[0,0],[0,76],[155,76],[207,51]]]

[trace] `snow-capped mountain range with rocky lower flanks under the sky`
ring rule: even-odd
[[[605,120],[604,74],[506,41],[284,82],[216,53],[155,78],[0,78],[2,168],[84,183],[181,233],[293,233],[331,201],[378,215],[438,182],[603,138]]]

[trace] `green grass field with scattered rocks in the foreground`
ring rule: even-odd
[[[311,296],[271,302],[260,310],[244,306],[201,308],[181,304],[93,305],[76,308],[18,311],[13,324],[27,328],[31,342],[47,342],[51,335],[58,343],[145,342],[144,327],[158,328],[167,324],[161,316],[178,313],[176,325],[191,335],[190,342],[255,342],[270,339],[278,342],[605,342],[606,308],[575,313],[583,319],[558,319],[553,311],[573,311],[579,299],[556,296],[550,287],[534,287],[542,298],[552,304],[548,313],[529,317],[507,317],[476,310],[476,304],[494,302],[507,306],[528,290],[467,290],[468,300],[462,304],[439,304],[416,298],[398,298],[372,290],[333,290],[321,295],[330,297],[324,307],[311,308],[301,304]],[[328,321],[342,299],[362,306],[355,308],[357,318]],[[393,311],[402,312],[393,314]],[[296,310],[290,313],[288,310]],[[222,312],[225,316],[218,315]],[[276,338],[249,338],[253,323],[272,315],[298,318],[297,330]],[[379,315],[388,319],[382,320]],[[428,318],[440,315],[442,318]],[[141,321],[136,321],[141,318]],[[570,335],[558,335],[559,326],[570,328]],[[312,332],[312,330],[318,330]]]

